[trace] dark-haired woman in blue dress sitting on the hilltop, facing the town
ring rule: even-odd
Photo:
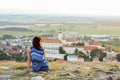
[[[32,46],[27,49],[27,56],[27,72],[30,71],[31,62],[34,72],[49,70],[48,63],[45,60],[45,50],[42,48],[42,39],[40,37],[33,38]]]

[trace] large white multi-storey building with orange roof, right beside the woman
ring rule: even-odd
[[[46,57],[64,59],[64,54],[59,54],[59,47],[63,46],[61,40],[54,38],[43,38],[42,45],[46,51]]]

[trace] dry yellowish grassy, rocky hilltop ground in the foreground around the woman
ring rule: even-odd
[[[120,80],[119,62],[49,62],[50,72],[26,73],[26,62],[0,62],[1,66],[10,67],[10,70],[0,69],[0,79],[30,80],[40,76],[44,80]],[[5,74],[7,73],[7,74]],[[7,77],[6,75],[10,75]],[[3,75],[6,76],[3,78]],[[1,77],[2,76],[2,77]]]

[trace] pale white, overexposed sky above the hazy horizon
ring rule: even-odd
[[[120,16],[120,0],[0,0],[0,13]]]

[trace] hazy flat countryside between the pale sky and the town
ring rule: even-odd
[[[31,36],[46,33],[56,36],[60,28],[63,34],[119,35],[119,22],[119,17],[104,16],[0,15],[0,37],[3,34]]]

